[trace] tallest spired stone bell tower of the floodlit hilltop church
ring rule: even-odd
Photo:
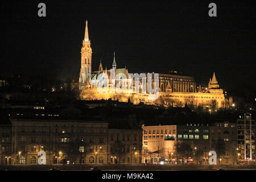
[[[90,40],[88,34],[88,22],[85,23],[85,35],[84,40],[82,40],[81,48],[81,69],[79,77],[79,89],[84,88],[87,78],[92,72],[92,48],[90,48]]]

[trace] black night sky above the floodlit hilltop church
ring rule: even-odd
[[[38,3],[47,7],[39,18]],[[217,17],[208,16],[210,2]],[[197,82],[213,72],[222,88],[256,85],[255,1],[5,1],[1,2],[1,73],[78,78],[85,20],[100,59],[129,72],[176,68]]]

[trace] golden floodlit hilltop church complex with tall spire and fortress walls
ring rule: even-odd
[[[154,88],[154,92],[150,92],[149,88]],[[87,21],[81,48],[79,89],[82,100],[111,98],[121,102],[133,102],[133,104],[143,102],[165,107],[185,105],[216,109],[225,107],[224,93],[215,73],[210,78],[208,88],[197,85],[191,76],[178,75],[175,72],[132,74],[126,68],[117,68],[115,53],[111,69],[104,69],[100,63],[98,70],[92,71],[92,48]]]

